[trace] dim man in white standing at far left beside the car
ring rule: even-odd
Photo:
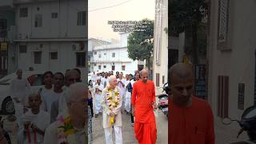
[[[16,71],[17,78],[10,82],[10,96],[14,99],[15,116],[18,126],[20,118],[24,113],[24,106],[27,106],[27,96],[31,93],[30,83],[26,78],[22,78],[22,70]]]

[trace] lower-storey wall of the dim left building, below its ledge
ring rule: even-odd
[[[38,48],[39,44],[43,44],[42,49]],[[42,51],[41,64],[34,64],[34,51]],[[50,59],[50,52],[58,52],[58,59]],[[51,70],[64,73],[67,69],[76,67],[76,52],[72,50],[70,42],[30,42],[27,44],[27,53],[18,54],[18,66],[22,70],[29,70],[31,66],[36,71]],[[84,69],[86,68],[81,70]]]

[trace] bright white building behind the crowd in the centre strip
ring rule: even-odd
[[[128,33],[120,34],[120,42],[93,48],[93,70],[98,72],[122,71],[124,74],[134,74],[138,70],[138,61],[128,58]]]

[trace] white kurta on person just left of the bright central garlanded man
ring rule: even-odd
[[[94,94],[95,94],[95,114],[102,112],[102,90],[104,89],[103,85],[95,85],[94,86]],[[101,90],[101,91],[98,91]]]

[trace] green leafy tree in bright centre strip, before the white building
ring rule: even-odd
[[[128,37],[128,57],[133,60],[144,61],[146,59],[146,66],[150,70],[152,62],[150,58],[153,56],[154,47],[154,21],[143,19],[140,21],[146,23],[145,31],[134,31]],[[137,24],[139,25],[139,24]],[[135,25],[136,26],[136,25]]]

